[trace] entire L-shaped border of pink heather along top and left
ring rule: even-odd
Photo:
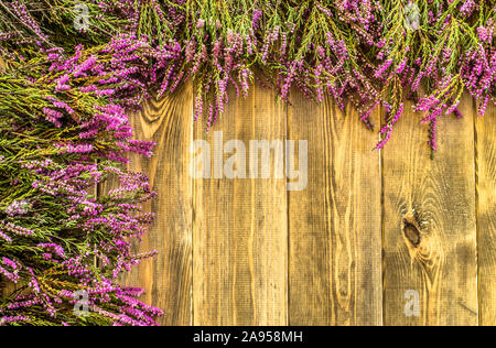
[[[495,104],[495,35],[496,0],[0,2],[0,274],[24,286],[0,304],[2,323],[80,324],[68,295],[87,289],[93,323],[153,324],[138,290],[112,284],[149,257],[129,238],[152,218],[139,208],[147,178],[116,165],[151,155],[126,110],[191,79],[209,130],[228,90],[257,81],[287,102],[293,88],[352,102],[370,129],[380,108],[381,149],[413,100],[435,150],[463,93],[481,116]],[[87,194],[110,176],[120,188]]]

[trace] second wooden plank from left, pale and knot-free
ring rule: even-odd
[[[247,162],[250,140],[285,140],[285,108],[276,104],[272,93],[256,86],[248,98],[231,94],[230,99],[208,135],[203,122],[195,128],[196,139],[208,142],[213,157],[223,153],[215,145],[219,132],[219,143],[239,140],[245,144]],[[239,155],[241,152],[237,150]],[[202,153],[195,155],[198,166]],[[233,154],[225,153],[224,161]],[[242,159],[236,163],[242,172]],[[215,172],[213,160],[212,178],[194,181],[194,324],[285,325],[285,181],[274,178],[273,173],[270,178],[230,180],[226,173]],[[246,175],[250,177],[248,164]]]

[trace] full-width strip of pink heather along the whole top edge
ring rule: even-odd
[[[77,20],[75,4],[88,9],[85,35],[75,35],[71,26]],[[9,31],[4,24],[0,37],[6,37],[3,46],[31,37],[37,45],[66,43],[67,51],[73,47],[67,43],[77,40],[87,45],[111,41],[119,47],[127,41],[131,47],[147,46],[141,64],[128,72],[141,88],[136,95],[161,97],[193,79],[195,118],[204,118],[207,130],[224,111],[229,88],[246,96],[250,83],[258,80],[288,102],[292,87],[317,101],[324,94],[341,107],[351,101],[369,128],[371,112],[382,107],[380,149],[401,119],[405,99],[411,99],[416,110],[425,112],[422,122],[431,124],[435,150],[436,121],[443,115],[460,117],[464,91],[477,100],[481,116],[496,102],[495,4],[495,0],[15,0],[9,13],[20,13],[21,29]],[[44,12],[53,19],[40,14]],[[65,28],[58,29],[65,34],[52,39],[43,34],[44,26]]]

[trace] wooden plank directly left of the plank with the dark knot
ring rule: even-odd
[[[289,195],[290,324],[381,325],[377,133],[331,98],[293,99],[289,138],[309,141],[309,185]]]

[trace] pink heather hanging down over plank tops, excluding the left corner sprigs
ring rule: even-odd
[[[405,99],[442,97],[443,115],[460,113],[465,90],[478,100],[481,115],[494,102],[494,1],[160,3],[160,13],[174,13],[166,21],[174,23],[169,42],[182,52],[159,74],[159,96],[192,78],[195,118],[205,117],[207,129],[224,111],[228,88],[246,96],[255,79],[288,102],[292,87],[317,101],[330,94],[342,108],[351,101],[369,128],[371,111],[384,106],[385,140]],[[145,36],[154,37],[150,31]],[[422,104],[416,109],[432,112]],[[435,115],[428,119],[434,122]],[[429,142],[435,148],[435,139]]]

